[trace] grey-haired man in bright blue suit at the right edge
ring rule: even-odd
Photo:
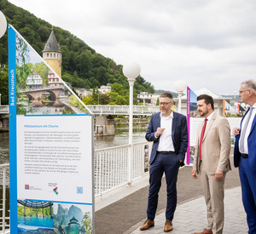
[[[234,164],[239,167],[242,203],[247,213],[248,233],[256,233],[256,82],[241,83],[241,102],[249,105],[241,119],[241,128],[234,128],[236,135]]]

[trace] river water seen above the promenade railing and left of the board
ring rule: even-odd
[[[134,128],[132,141],[145,141],[147,126],[143,128]],[[127,145],[129,142],[128,128],[116,128],[113,136],[95,136],[94,148],[103,149],[113,146]],[[0,164],[9,163],[9,132],[0,132]]]

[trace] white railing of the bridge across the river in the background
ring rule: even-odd
[[[87,106],[95,115],[128,115],[129,106]],[[132,106],[133,115],[135,116],[151,116],[159,111],[159,106]]]

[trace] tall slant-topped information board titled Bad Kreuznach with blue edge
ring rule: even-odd
[[[11,233],[94,233],[93,117],[13,26],[9,136]]]

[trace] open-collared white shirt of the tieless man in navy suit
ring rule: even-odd
[[[163,117],[160,114],[160,128],[166,128],[160,135],[159,145],[157,151],[174,151],[172,141],[172,119],[173,111],[168,117]]]

